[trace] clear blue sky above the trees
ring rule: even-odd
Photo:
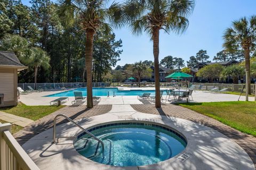
[[[29,0],[22,2],[29,5]],[[201,49],[207,50],[212,60],[222,50],[222,35],[231,22],[253,14],[256,14],[255,0],[196,0],[195,9],[188,18],[188,29],[182,35],[169,35],[161,31],[159,61],[171,55],[183,58],[186,63],[190,56],[195,56]],[[153,41],[149,35],[143,33],[142,36],[136,37],[127,27],[116,29],[114,33],[116,39],[123,41],[123,53],[117,65],[132,64],[140,60],[154,61]]]

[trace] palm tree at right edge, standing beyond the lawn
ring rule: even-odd
[[[234,21],[232,26],[226,29],[223,39],[225,41],[223,47],[228,52],[233,53],[241,48],[244,50],[245,69],[249,73],[249,78],[246,80],[246,90],[251,94],[250,53],[255,49],[256,16],[252,15],[249,19],[244,17]]]

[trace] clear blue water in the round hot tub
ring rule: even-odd
[[[170,159],[185,149],[187,142],[172,130],[144,123],[115,123],[91,129],[105,145],[87,134],[78,136],[74,146],[79,154],[113,166],[150,165]]]

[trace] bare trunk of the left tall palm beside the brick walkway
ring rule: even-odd
[[[86,67],[86,79],[87,79],[87,108],[93,108],[92,101],[92,55],[93,55],[93,35],[94,30],[86,30],[85,41],[85,67]]]

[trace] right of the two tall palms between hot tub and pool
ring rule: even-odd
[[[134,35],[146,31],[153,40],[156,103],[161,107],[159,84],[159,31],[182,33],[188,27],[187,16],[193,11],[194,0],[128,0],[124,17]]]

